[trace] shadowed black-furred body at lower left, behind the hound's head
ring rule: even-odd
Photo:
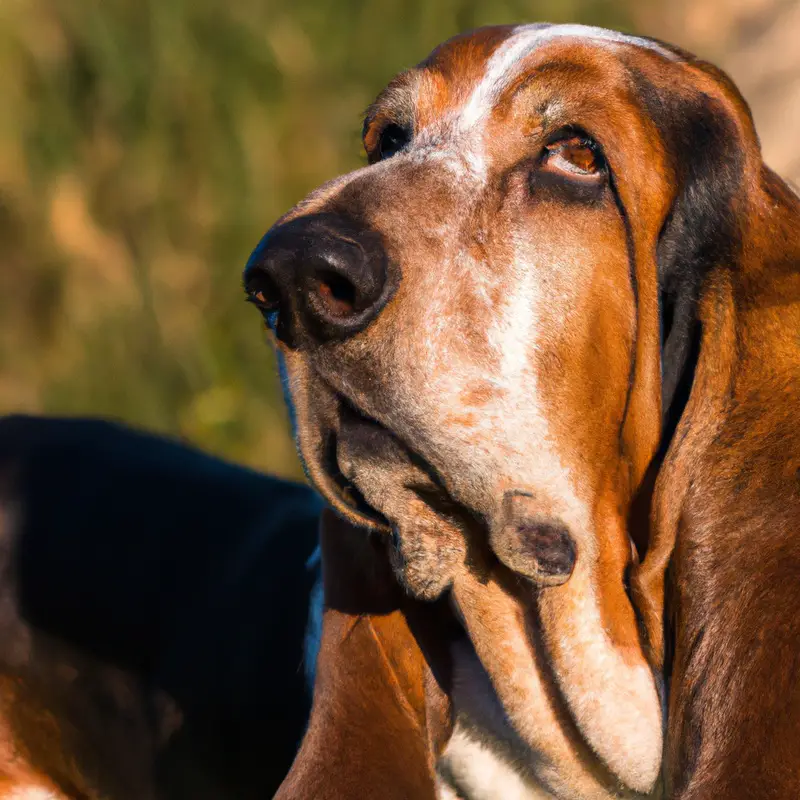
[[[0,419],[0,484],[0,670],[43,686],[58,675],[91,706],[92,780],[142,796],[141,767],[119,785],[103,761],[135,749],[126,737],[144,724],[153,796],[271,797],[310,704],[303,639],[321,500],[90,419]]]

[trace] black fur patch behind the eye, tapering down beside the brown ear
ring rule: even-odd
[[[729,78],[684,55],[723,87]],[[672,208],[657,244],[662,346],[662,412],[668,443],[686,405],[697,360],[696,305],[705,276],[731,263],[738,248],[736,197],[745,154],[739,128],[721,99],[698,90],[656,86],[639,75],[636,90],[658,128],[676,179]]]

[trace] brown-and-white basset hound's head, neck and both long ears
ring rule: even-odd
[[[800,202],[744,99],[491,27],[363,139],[244,275],[340,517],[278,797],[800,796]]]

